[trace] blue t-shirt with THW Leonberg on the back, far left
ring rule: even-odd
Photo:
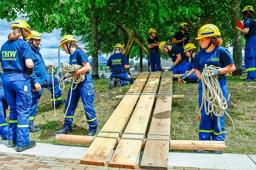
[[[1,48],[0,62],[3,70],[24,71],[25,60],[33,59],[30,45],[22,40],[7,40]]]

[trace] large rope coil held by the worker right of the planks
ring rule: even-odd
[[[226,98],[224,98],[222,90],[220,88],[218,76],[212,76],[212,73],[214,71],[219,71],[220,69],[220,67],[215,67],[213,65],[207,66],[207,64],[205,64],[201,75],[203,92],[202,104],[199,109],[199,113],[201,112],[204,105],[206,115],[209,115],[210,113],[214,114],[218,120],[218,129],[222,133],[226,133],[226,131],[222,131],[220,129],[220,117],[223,117],[224,114],[228,115],[228,113],[226,112],[226,109],[228,108],[228,103]],[[208,102],[208,106],[206,105],[206,102]],[[230,115],[228,115],[228,117],[230,118],[233,125],[232,130],[234,130],[234,122],[231,119]]]

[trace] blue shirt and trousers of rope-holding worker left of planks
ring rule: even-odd
[[[84,51],[80,49],[76,49],[72,55],[69,57],[69,64],[78,64],[83,66],[82,63],[88,63],[88,57],[84,53]],[[70,106],[68,107],[67,114],[64,119],[63,129],[72,129],[71,124],[73,121],[73,116],[75,113],[76,106],[81,97],[82,103],[84,105],[85,115],[87,119],[87,123],[89,125],[89,131],[96,132],[98,121],[96,119],[96,113],[93,106],[94,102],[94,88],[92,84],[92,76],[89,72],[86,72],[85,79],[82,82],[79,82],[75,89],[72,90],[72,96],[70,99],[70,90],[74,88],[70,86],[68,91],[68,97],[65,104],[65,111],[68,107],[68,103],[70,102]]]

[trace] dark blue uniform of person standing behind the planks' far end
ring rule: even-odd
[[[160,42],[158,37],[153,37],[153,39],[148,39],[148,44],[154,44]],[[158,46],[149,49],[149,65],[151,67],[151,72],[161,71],[161,59],[159,54]]]

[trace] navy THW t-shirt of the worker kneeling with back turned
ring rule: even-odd
[[[111,67],[111,72],[125,72],[124,65],[128,65],[128,61],[125,55],[121,53],[115,53],[109,57],[107,66]]]

